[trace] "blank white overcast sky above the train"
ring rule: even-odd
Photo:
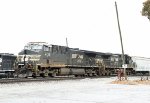
[[[116,0],[124,51],[150,57],[145,0]],[[0,52],[18,54],[41,41],[85,50],[121,53],[115,0],[0,0]]]

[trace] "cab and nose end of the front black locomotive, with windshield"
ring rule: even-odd
[[[50,55],[49,48],[45,42],[29,42],[18,54],[17,68],[19,76],[28,77],[39,74],[37,71],[44,62],[41,57],[45,57],[47,54]]]

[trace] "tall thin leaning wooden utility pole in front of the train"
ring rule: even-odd
[[[124,68],[125,79],[127,79],[126,67],[124,67],[125,66],[125,58],[124,58],[123,41],[122,41],[122,35],[121,35],[121,29],[120,29],[120,23],[119,23],[119,14],[118,14],[118,8],[117,8],[117,2],[116,1],[115,1],[115,7],[116,7],[116,15],[117,15],[118,29],[119,29],[121,49],[122,49],[122,65],[123,65],[123,68]]]

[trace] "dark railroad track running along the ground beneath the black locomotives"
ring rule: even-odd
[[[61,80],[77,80],[85,78],[110,78],[112,76],[102,76],[102,77],[55,77],[55,78],[3,78],[0,79],[0,84],[6,83],[19,83],[19,82],[42,82],[42,81],[61,81]]]

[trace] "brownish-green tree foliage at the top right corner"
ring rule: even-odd
[[[150,20],[150,0],[143,2],[142,15]]]

